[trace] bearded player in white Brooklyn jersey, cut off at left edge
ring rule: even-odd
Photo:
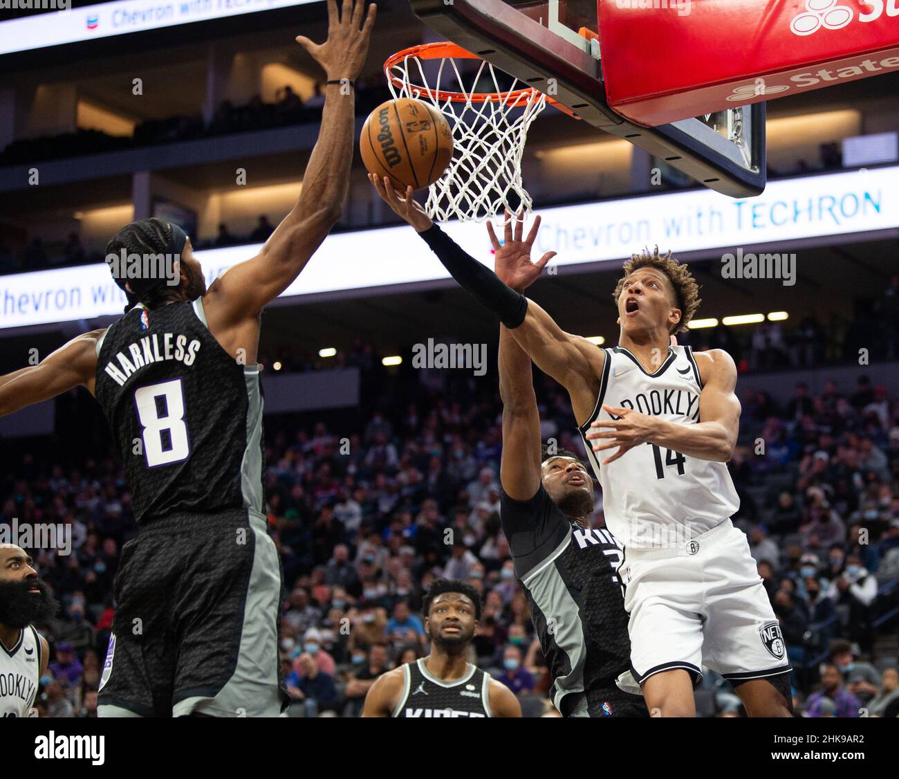
[[[31,716],[49,647],[32,622],[48,622],[56,601],[34,561],[12,543],[0,544],[0,717]]]

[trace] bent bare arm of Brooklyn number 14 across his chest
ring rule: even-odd
[[[740,430],[740,401],[734,393],[734,360],[721,349],[698,352],[695,356],[703,381],[699,395],[699,423],[681,425],[631,408],[603,406],[609,414],[620,417],[594,422],[586,435],[594,452],[618,449],[602,461],[603,465],[618,460],[640,443],[655,443],[698,460],[726,462],[734,456]]]

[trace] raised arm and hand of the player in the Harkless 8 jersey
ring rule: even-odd
[[[303,189],[293,210],[253,259],[237,264],[209,287],[203,305],[215,332],[256,317],[297,278],[340,218],[350,184],[353,151],[354,82],[369,49],[375,4],[328,0],[328,40],[316,45],[298,36],[298,43],[325,70],[325,107],[318,140],[303,176]],[[213,324],[214,322],[214,324]]]

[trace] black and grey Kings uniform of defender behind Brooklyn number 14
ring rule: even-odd
[[[542,484],[528,501],[503,491],[500,519],[554,680],[556,709],[563,711],[565,695],[583,693],[591,716],[600,717],[610,699],[636,697],[615,684],[630,668],[619,542],[608,530],[570,522]]]

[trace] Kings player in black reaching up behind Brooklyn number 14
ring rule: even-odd
[[[535,220],[529,240],[539,227]],[[515,240],[494,242],[496,275],[524,291],[554,253],[536,264]],[[605,528],[593,529],[593,479],[572,452],[544,450],[530,357],[500,325],[503,398],[503,496],[500,519],[515,576],[553,676],[551,697],[563,716],[648,717],[630,676],[628,613],[619,564],[623,550]],[[541,464],[542,462],[542,464]],[[621,677],[625,692],[616,684]]]

